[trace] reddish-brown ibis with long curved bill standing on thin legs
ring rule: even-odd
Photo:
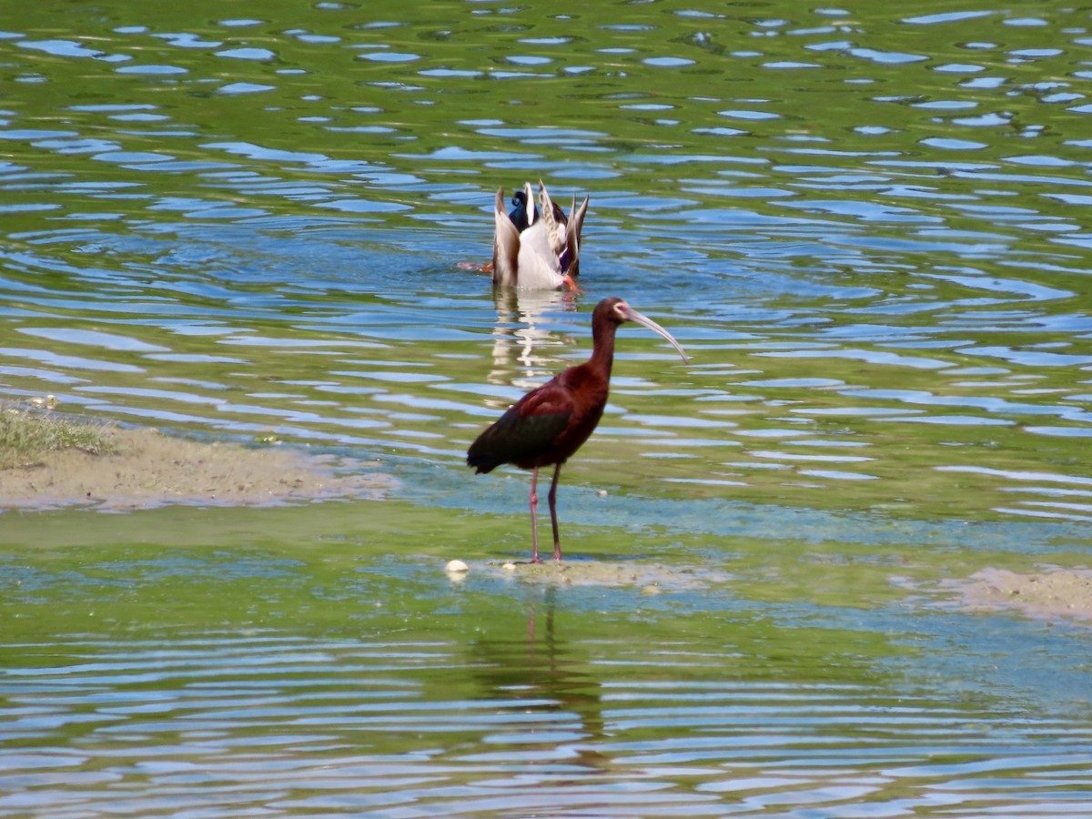
[[[475,472],[491,472],[505,463],[532,470],[531,526],[532,562],[538,559],[536,487],[538,470],[554,466],[549,489],[550,522],[554,526],[554,559],[561,559],[557,530],[557,479],[561,464],[580,449],[598,426],[607,403],[610,367],[614,364],[615,333],[625,321],[637,321],[666,337],[686,360],[686,354],[670,334],[633,310],[620,298],[605,298],[592,313],[592,356],[584,364],[562,370],[532,390],[492,426],[478,436],[466,452],[466,463]]]

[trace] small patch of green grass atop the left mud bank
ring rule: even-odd
[[[78,449],[98,455],[112,447],[105,424],[0,402],[0,470],[33,464],[47,452]]]

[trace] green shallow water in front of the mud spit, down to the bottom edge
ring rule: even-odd
[[[897,587],[912,550],[582,529],[630,554],[556,582],[444,577],[495,522],[401,501],[10,523],[3,815],[1057,816],[1092,787],[1088,630],[909,597],[970,561],[947,544]]]

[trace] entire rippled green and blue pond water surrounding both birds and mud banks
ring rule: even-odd
[[[1092,545],[1087,12],[406,5],[0,11],[2,395],[397,479],[0,517],[0,809],[1082,809],[1087,632],[937,590]],[[539,176],[583,292],[495,295]],[[708,583],[489,567],[465,447],[607,295],[692,360],[620,333],[567,554]]]

